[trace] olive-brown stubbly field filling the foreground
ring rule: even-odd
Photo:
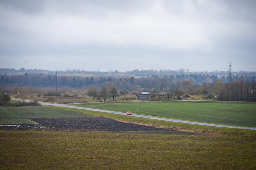
[[[256,169],[256,138],[0,131],[0,169]]]

